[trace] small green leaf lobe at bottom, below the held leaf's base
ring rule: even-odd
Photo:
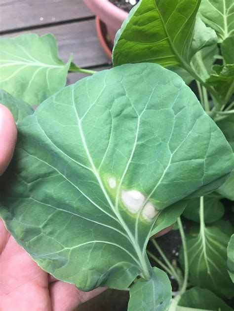
[[[149,281],[138,279],[130,287],[128,311],[165,311],[171,301],[171,283],[166,273],[153,268]]]

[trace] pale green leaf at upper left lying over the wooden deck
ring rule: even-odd
[[[29,104],[40,104],[66,84],[71,63],[58,58],[51,34],[0,39],[0,88]]]

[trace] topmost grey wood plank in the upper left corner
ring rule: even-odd
[[[1,32],[90,16],[82,0],[0,0]]]

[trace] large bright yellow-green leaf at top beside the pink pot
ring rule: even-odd
[[[197,51],[216,34],[195,17],[200,0],[141,0],[117,33],[114,66],[153,62],[188,69]]]

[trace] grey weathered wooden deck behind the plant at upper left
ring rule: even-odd
[[[59,57],[85,69],[110,68],[110,61],[101,50],[93,14],[82,0],[0,0],[0,36],[27,33],[55,35]],[[68,84],[84,77],[69,73]]]

